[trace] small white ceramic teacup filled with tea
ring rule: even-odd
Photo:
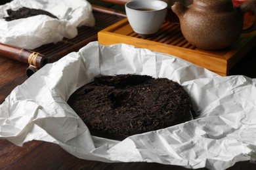
[[[135,33],[145,37],[156,33],[167,14],[167,3],[160,0],[136,0],[125,4],[129,24]]]

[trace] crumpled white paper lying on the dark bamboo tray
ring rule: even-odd
[[[3,19],[9,16],[7,9],[21,7],[46,10],[58,19],[46,15],[9,22]],[[0,5],[0,42],[20,48],[34,49],[64,37],[72,39],[81,25],[95,25],[91,4],[86,0],[13,0]]]

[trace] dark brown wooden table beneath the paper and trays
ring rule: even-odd
[[[11,91],[22,84],[27,76],[25,63],[0,56],[0,104]],[[231,75],[246,75],[256,78],[256,49],[247,54],[230,71]],[[0,169],[186,169],[159,163],[103,163],[81,160],[72,156],[60,146],[43,141],[31,141],[24,146],[16,146],[0,139]],[[229,169],[256,169],[249,161],[236,163]]]

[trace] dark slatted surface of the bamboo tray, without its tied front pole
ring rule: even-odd
[[[70,52],[78,51],[89,42],[96,41],[98,31],[125,18],[125,14],[121,12],[95,6],[93,7],[93,15],[96,21],[94,27],[78,27],[78,35],[74,39],[64,38],[56,44],[46,44],[33,49],[33,51],[43,54],[49,59],[49,63],[57,61]]]

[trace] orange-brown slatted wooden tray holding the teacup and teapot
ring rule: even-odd
[[[158,33],[144,38],[135,33],[127,18],[124,18],[99,31],[98,42],[104,45],[125,43],[171,54],[226,76],[228,71],[255,46],[256,32],[242,34],[238,41],[225,50],[206,51],[188,43],[182,36],[179,24],[165,22]]]

